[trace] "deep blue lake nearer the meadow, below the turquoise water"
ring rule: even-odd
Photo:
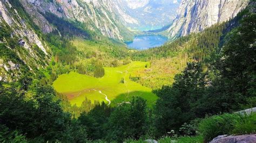
[[[125,42],[130,48],[143,50],[163,45],[168,38],[161,35],[139,35],[134,37],[132,42]]]

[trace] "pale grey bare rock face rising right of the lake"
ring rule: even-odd
[[[177,18],[167,30],[168,37],[175,39],[225,22],[235,17],[247,4],[248,0],[183,0]]]

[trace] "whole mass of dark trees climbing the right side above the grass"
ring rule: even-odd
[[[227,34],[219,54],[216,54],[218,49],[215,49],[204,61],[188,63],[183,72],[175,77],[172,87],[156,91],[159,96],[155,109],[156,135],[171,130],[178,131],[184,123],[203,118],[207,114],[237,111],[241,109],[241,105],[253,103],[256,68],[253,62],[256,55],[256,35],[251,31],[253,27],[255,14],[251,13]],[[224,130],[221,133],[230,131],[231,125],[226,120],[220,125]],[[215,124],[212,123],[212,126]],[[183,134],[183,129],[187,128],[188,126],[181,127],[182,130],[178,133]],[[214,132],[217,131],[218,127],[208,133],[214,137]]]

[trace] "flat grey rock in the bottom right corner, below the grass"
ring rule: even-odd
[[[210,143],[255,143],[256,134],[245,135],[219,135],[214,138]]]

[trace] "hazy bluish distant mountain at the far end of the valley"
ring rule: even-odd
[[[180,1],[118,0],[116,7],[124,25],[139,31],[156,30],[176,18]]]

